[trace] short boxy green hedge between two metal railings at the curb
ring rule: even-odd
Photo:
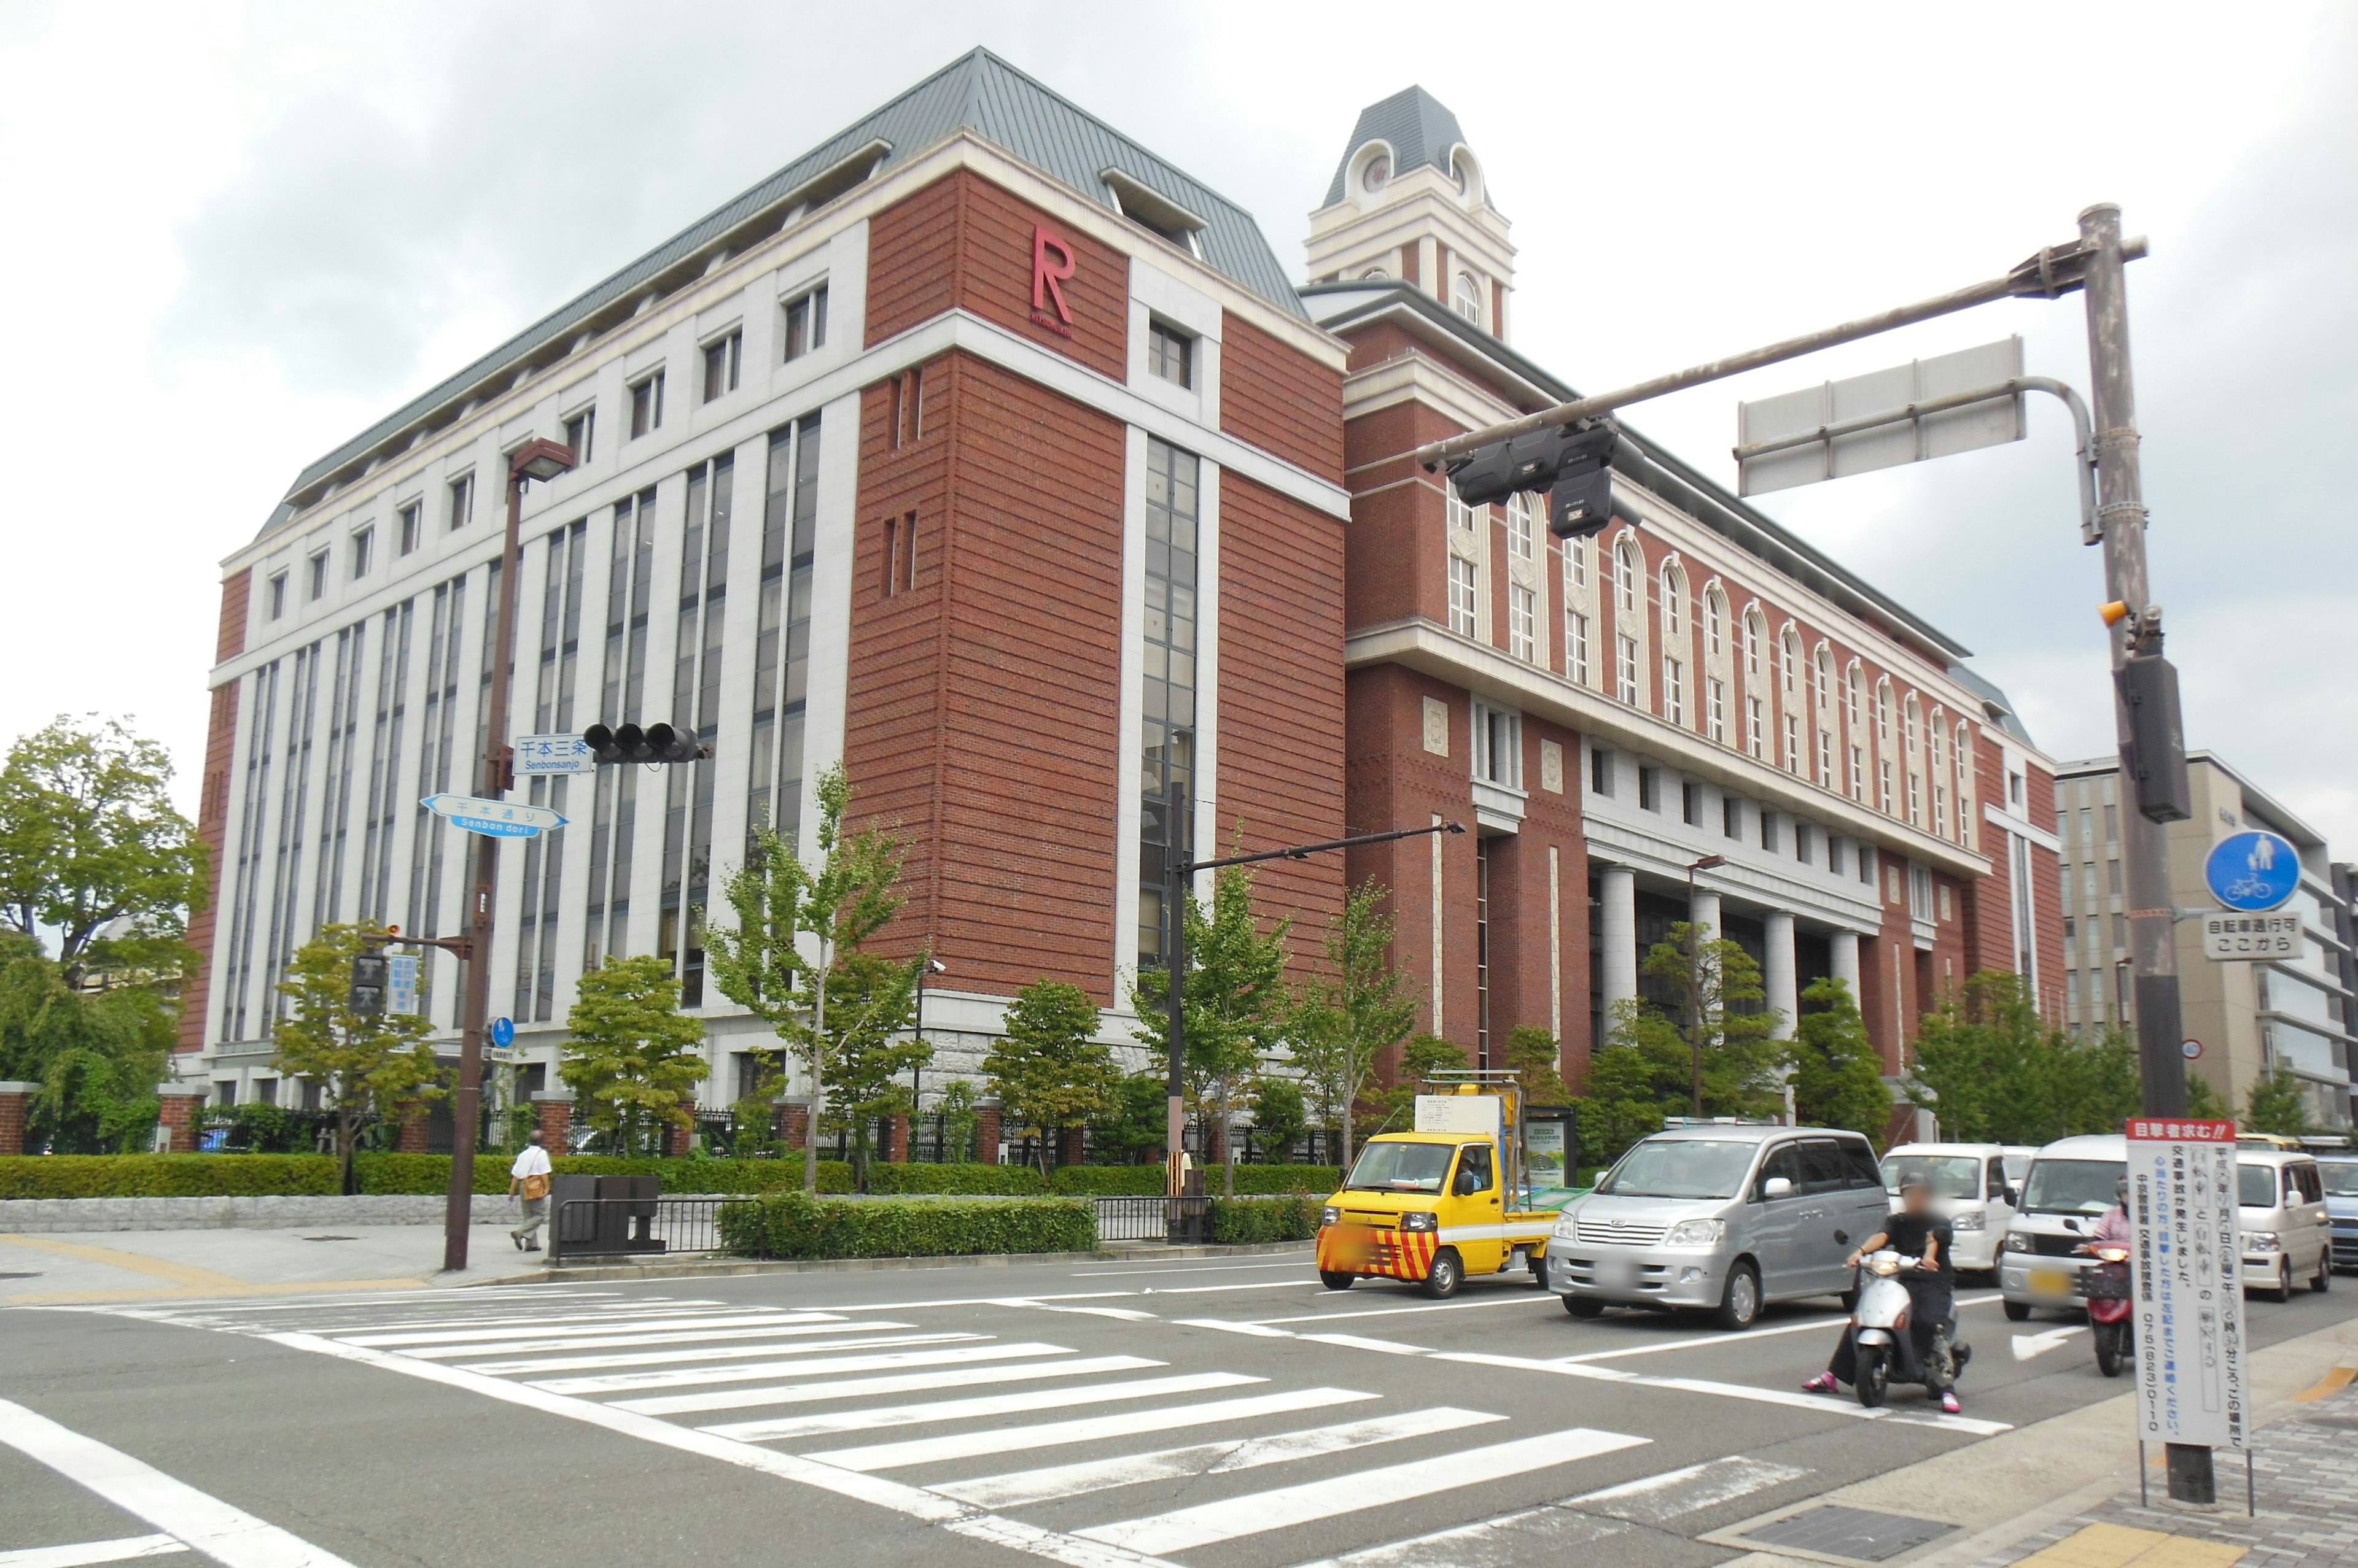
[[[743,1257],[969,1257],[1092,1252],[1096,1207],[1075,1198],[844,1203],[771,1193],[719,1214],[722,1245]]]

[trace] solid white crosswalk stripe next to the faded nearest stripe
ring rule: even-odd
[[[1330,1476],[1325,1481],[1304,1481],[1302,1485],[1285,1485],[1271,1493],[1224,1497],[1221,1502],[1203,1502],[1191,1509],[1172,1509],[1170,1514],[1122,1518],[1111,1526],[1078,1530],[1078,1535],[1162,1556],[1236,1540],[1238,1535],[1259,1535],[1262,1530],[1285,1530],[1335,1518],[1337,1514],[1356,1514],[1370,1504],[1431,1497],[1434,1493],[1500,1481],[1502,1476],[1521,1476],[1552,1464],[1592,1460],[1648,1441],[1625,1431],[1573,1427],[1570,1431],[1549,1431],[1535,1438],[1493,1443],[1490,1448],[1467,1448],[1429,1460]]]

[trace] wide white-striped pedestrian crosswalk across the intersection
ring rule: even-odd
[[[929,1304],[750,1309],[585,1285],[500,1302],[354,1294],[116,1311],[472,1389],[1082,1568],[1167,1563],[1339,1518],[1368,1540],[1370,1516],[1394,1521],[1398,1561],[1434,1561],[1417,1542],[1431,1540],[1436,1514],[1478,1514],[1476,1488],[1648,1443],[1592,1427],[1530,1431],[1495,1410],[1372,1389],[1174,1368],[1155,1353],[1082,1353],[1054,1330],[995,1335],[988,1323],[1000,1320]],[[1412,1507],[1434,1497],[1443,1502]],[[1318,1542],[1306,1533],[1271,1549],[1297,1561],[1318,1556]]]

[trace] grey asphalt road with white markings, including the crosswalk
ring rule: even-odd
[[[2254,1346],[2341,1285],[2250,1302]],[[7,1311],[0,1563],[1717,1563],[1707,1530],[2125,1391],[2082,1325],[1959,1299],[1962,1419],[1799,1394],[1832,1302],[1575,1323],[1306,1257]]]

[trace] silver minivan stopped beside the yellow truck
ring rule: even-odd
[[[1832,1127],[1693,1125],[1629,1146],[1563,1207],[1547,1287],[1563,1311],[1693,1306],[1750,1327],[1768,1302],[1853,1290],[1886,1214],[1875,1148]]]

